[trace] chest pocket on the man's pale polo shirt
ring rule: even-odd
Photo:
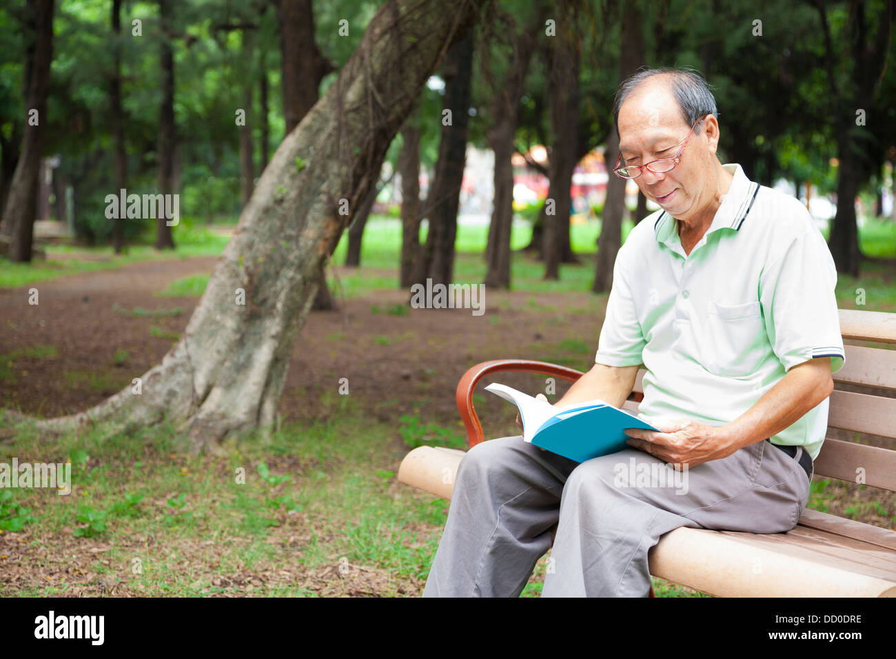
[[[717,376],[745,377],[759,368],[768,340],[758,300],[736,305],[708,300],[704,320],[704,369]]]

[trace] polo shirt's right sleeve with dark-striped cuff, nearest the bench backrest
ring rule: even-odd
[[[831,358],[831,373],[842,368],[846,353],[836,285],[831,250],[814,225],[762,269],[759,289],[765,329],[785,370],[822,357]]]

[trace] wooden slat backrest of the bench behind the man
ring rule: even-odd
[[[833,374],[834,382],[896,391],[896,350],[851,345],[853,342],[896,344],[896,314],[840,309],[846,361]],[[644,369],[638,372],[635,392],[643,394]],[[625,407],[636,410],[627,401]],[[896,398],[835,389],[831,394],[828,428],[896,438]],[[815,473],[840,481],[857,482],[896,492],[896,450],[825,438],[815,460]]]

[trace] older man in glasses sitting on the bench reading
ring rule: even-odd
[[[645,596],[648,550],[680,526],[797,525],[845,360],[837,273],[806,207],[716,156],[698,74],[639,71],[620,86],[616,176],[659,211],[616,256],[595,365],[557,405],[622,406],[643,365],[631,448],[578,464],[495,438],[461,460],[424,596],[516,596],[551,546],[543,596]],[[676,464],[688,483],[620,482],[620,464]]]

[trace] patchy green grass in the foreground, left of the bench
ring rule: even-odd
[[[168,422],[131,434],[97,426],[50,445],[19,427],[0,445],[0,461],[70,462],[72,493],[16,490],[2,502],[42,551],[19,559],[32,583],[0,582],[0,595],[78,594],[105,579],[116,594],[316,596],[304,576],[344,566],[346,577],[376,570],[377,594],[417,596],[448,502],[397,483],[395,473],[409,446],[456,446],[462,429],[409,416],[400,438],[393,422],[372,419],[350,396],[324,395],[322,404],[332,412],[322,421],[229,438],[220,455],[184,453]],[[59,551],[81,558],[66,563],[63,578],[44,559]],[[522,596],[540,594],[546,565],[538,561]],[[288,576],[248,590],[255,575],[280,571]],[[659,596],[694,596],[664,583],[654,580]]]

